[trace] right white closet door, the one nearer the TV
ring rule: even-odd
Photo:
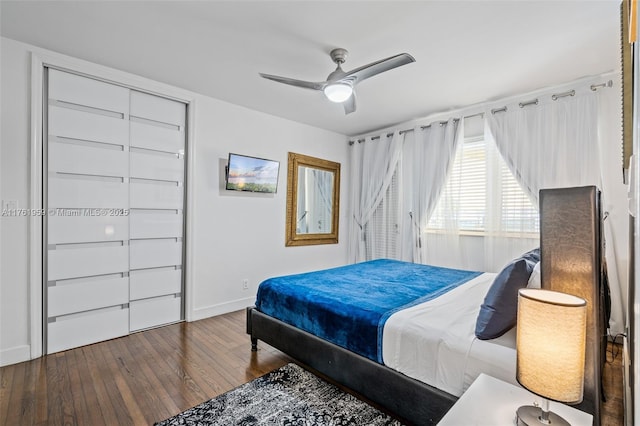
[[[180,102],[131,93],[131,330],[181,317],[185,116]]]

